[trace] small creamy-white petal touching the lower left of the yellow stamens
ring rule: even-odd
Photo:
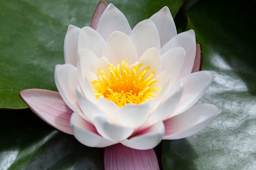
[[[100,96],[98,99],[98,106],[113,122],[115,121],[115,114],[117,113],[117,110],[120,109],[117,104]]]

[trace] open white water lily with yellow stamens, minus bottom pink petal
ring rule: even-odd
[[[199,132],[221,112],[194,105],[215,76],[199,71],[196,48],[194,31],[177,34],[168,7],[131,29],[119,9],[101,1],[90,27],[68,26],[65,64],[54,73],[58,92],[28,89],[20,96],[86,146],[152,149]]]

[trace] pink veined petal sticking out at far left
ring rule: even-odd
[[[73,135],[70,128],[73,111],[65,104],[60,93],[44,89],[27,89],[20,92],[20,97],[45,122]]]

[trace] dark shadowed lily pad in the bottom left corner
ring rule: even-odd
[[[1,170],[103,170],[103,148],[80,144],[29,109],[1,110]]]

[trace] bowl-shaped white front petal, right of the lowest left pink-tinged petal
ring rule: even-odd
[[[122,141],[132,135],[133,129],[112,124],[106,117],[95,117],[93,124],[101,136],[113,141]]]

